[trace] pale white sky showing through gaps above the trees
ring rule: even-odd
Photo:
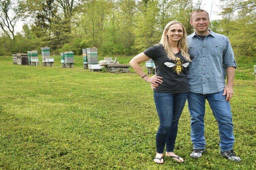
[[[195,4],[197,1],[198,0],[193,0],[193,3]],[[201,1],[202,3],[200,8],[209,13],[211,21],[215,19],[222,19],[222,17],[218,15],[218,13],[220,12],[220,8],[218,6],[220,5],[219,0],[201,0]],[[15,32],[21,32],[23,24],[24,22],[18,21],[16,24]]]

